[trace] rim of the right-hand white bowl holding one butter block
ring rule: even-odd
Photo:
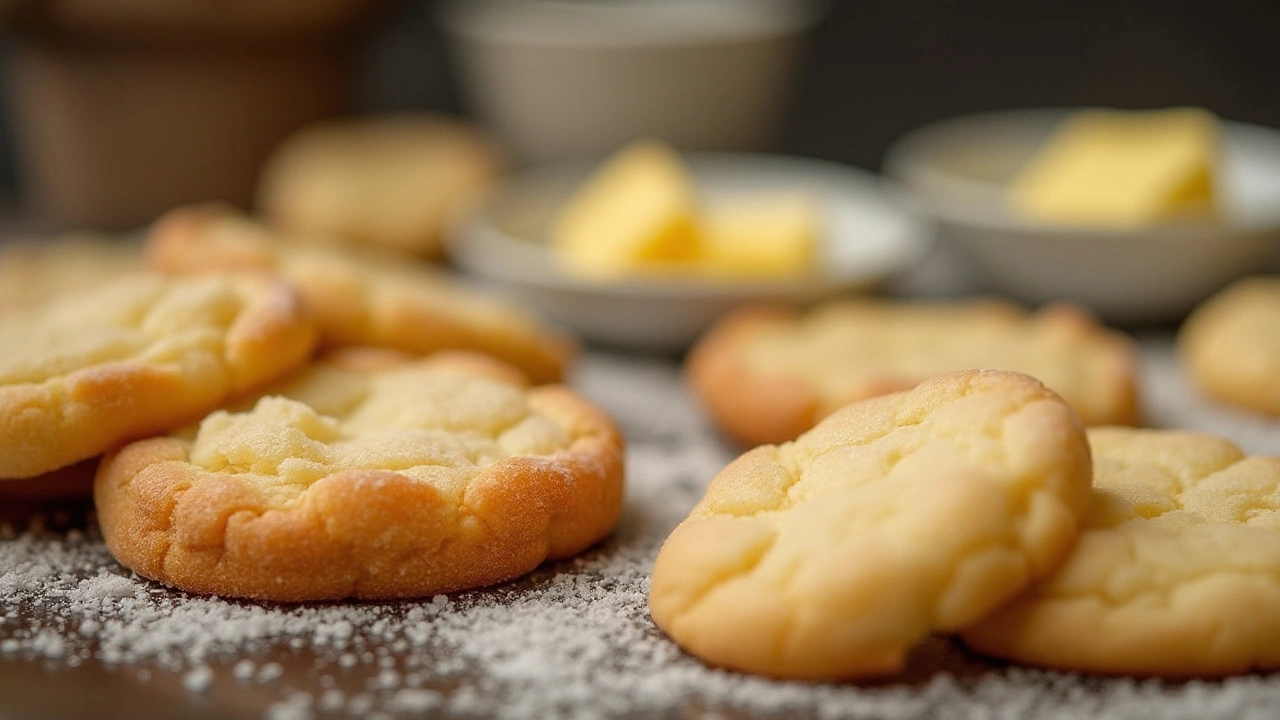
[[[982,202],[968,202],[964,197],[998,192],[1000,186],[980,179],[966,178],[948,173],[936,165],[931,158],[931,146],[943,142],[957,132],[974,127],[992,124],[1051,124],[1082,110],[1111,109],[1105,106],[1044,106],[989,110],[956,115],[933,120],[913,128],[895,140],[884,151],[881,164],[886,177],[895,179],[911,192],[919,201],[919,208],[932,219],[954,224],[969,225],[977,229],[1019,233],[1024,236],[1069,237],[1083,242],[1114,242],[1119,238],[1138,236],[1160,237],[1198,237],[1210,233],[1229,232],[1272,232],[1280,229],[1280,211],[1271,213],[1262,222],[1226,223],[1213,219],[1175,219],[1156,225],[1140,228],[1107,228],[1091,225],[1052,224],[1020,218],[1011,213],[991,213]],[[1220,119],[1224,132],[1244,135],[1267,135],[1280,142],[1280,129],[1253,123]],[[932,184],[945,187],[950,199],[928,197],[919,186]],[[1277,204],[1280,210],[1280,204]]]

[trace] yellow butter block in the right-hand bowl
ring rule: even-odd
[[[1091,110],[1066,119],[1010,187],[1046,223],[1139,227],[1211,214],[1217,119],[1198,109]]]

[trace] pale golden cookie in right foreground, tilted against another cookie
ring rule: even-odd
[[[887,675],[1051,573],[1088,500],[1084,425],[1057,395],[937,375],[730,464],[663,544],[649,609],[712,665]]]

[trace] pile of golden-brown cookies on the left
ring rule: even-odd
[[[276,601],[419,597],[616,524],[621,436],[547,384],[573,343],[534,318],[223,206],[172,211],[142,256],[0,315],[0,493],[96,474],[102,534],[140,574]]]

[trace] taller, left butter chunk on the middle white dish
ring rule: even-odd
[[[696,259],[696,191],[680,155],[639,142],[609,158],[561,210],[549,240],[564,268],[614,279]]]

